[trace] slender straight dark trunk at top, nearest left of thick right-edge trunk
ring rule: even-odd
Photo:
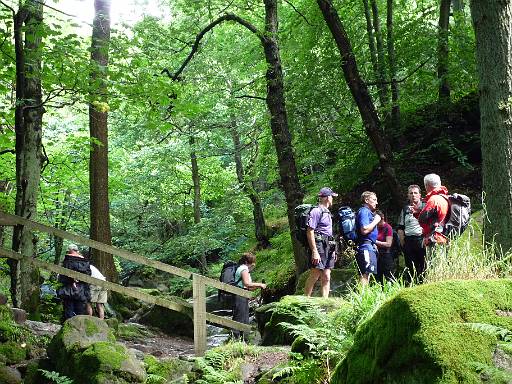
[[[448,82],[448,36],[450,26],[451,0],[441,0],[439,10],[439,31],[437,43],[437,78],[439,80],[439,104],[450,102],[450,84]]]

